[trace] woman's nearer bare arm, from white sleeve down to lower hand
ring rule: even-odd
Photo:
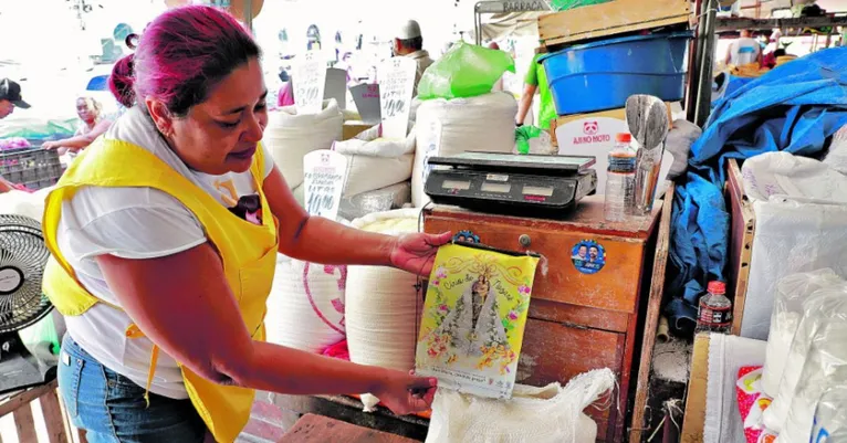
[[[252,340],[209,243],[150,260],[101,255],[97,263],[145,335],[210,381],[290,394],[373,392],[398,413],[431,403],[433,379]],[[412,389],[428,393],[417,398]]]

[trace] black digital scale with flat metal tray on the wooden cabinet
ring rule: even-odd
[[[423,191],[437,204],[558,219],[597,190],[595,157],[467,151],[431,157]]]

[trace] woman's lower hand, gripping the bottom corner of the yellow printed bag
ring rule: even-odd
[[[397,415],[428,411],[436,397],[438,380],[387,370],[383,382],[372,392],[379,403]]]

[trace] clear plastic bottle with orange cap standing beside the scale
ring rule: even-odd
[[[629,148],[629,134],[615,136],[606,175],[606,200],[603,213],[608,221],[624,221],[635,199],[636,154]]]

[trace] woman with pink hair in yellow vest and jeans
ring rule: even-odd
[[[254,389],[372,392],[400,414],[432,401],[435,379],[264,341],[278,253],[428,275],[450,234],[310,217],[261,144],[259,56],[216,8],[158,17],[109,81],[128,109],[46,198],[43,288],[69,333],[59,387],[92,443],[231,442]]]

